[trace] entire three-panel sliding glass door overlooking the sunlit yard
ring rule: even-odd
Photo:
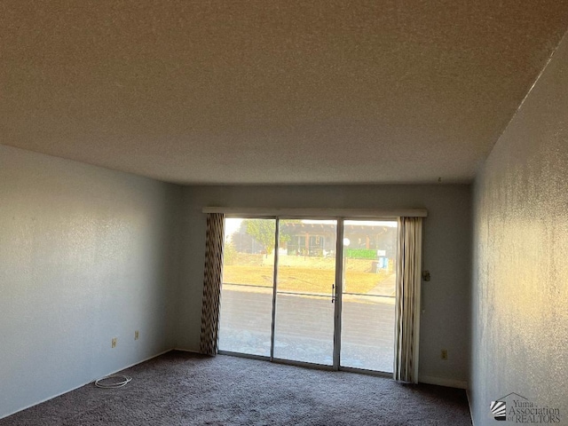
[[[396,226],[225,219],[219,351],[391,372]]]

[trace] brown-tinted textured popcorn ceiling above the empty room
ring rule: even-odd
[[[469,182],[568,1],[3,1],[0,143],[185,184]]]

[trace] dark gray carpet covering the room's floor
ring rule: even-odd
[[[7,425],[471,425],[463,390],[403,385],[219,355],[171,351],[0,420]]]

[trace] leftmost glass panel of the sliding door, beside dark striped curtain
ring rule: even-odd
[[[270,357],[275,233],[275,219],[225,219],[219,351]]]

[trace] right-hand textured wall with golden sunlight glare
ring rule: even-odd
[[[493,148],[474,201],[470,398],[509,392],[568,424],[568,40]]]

